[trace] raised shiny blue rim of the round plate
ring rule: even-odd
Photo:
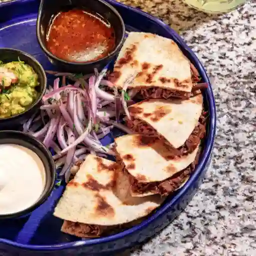
[[[11,0],[9,2],[0,3],[0,7],[2,7],[3,5],[6,6],[6,5],[14,4],[14,3],[22,3],[22,2],[29,2],[29,1],[34,1],[34,0]],[[21,243],[15,242],[15,241],[10,241],[5,238],[0,238],[0,242],[2,242],[2,243],[5,243],[5,244],[11,245],[11,246],[15,246],[15,247],[19,247],[19,248],[23,248],[23,249],[49,251],[49,250],[62,250],[62,249],[70,249],[70,248],[74,248],[74,247],[89,246],[89,245],[93,245],[93,244],[106,243],[109,241],[121,239],[124,236],[127,236],[131,233],[134,233],[136,231],[143,229],[144,227],[149,225],[152,221],[154,221],[155,219],[157,219],[161,215],[163,215],[171,207],[173,207],[177,203],[177,201],[179,201],[183,197],[183,195],[185,195],[186,191],[196,183],[198,177],[201,175],[201,173],[203,172],[203,170],[206,167],[206,164],[210,160],[211,152],[212,152],[213,145],[214,145],[215,131],[216,131],[216,108],[215,108],[215,101],[214,101],[214,96],[213,96],[213,91],[212,91],[212,88],[210,85],[210,81],[209,81],[209,78],[208,78],[206,71],[205,71],[204,67],[202,66],[201,62],[199,61],[197,56],[193,53],[193,51],[186,45],[184,40],[175,32],[175,30],[170,28],[167,24],[165,24],[160,19],[158,19],[142,10],[139,10],[139,9],[131,7],[131,6],[127,6],[123,3],[116,2],[114,0],[106,0],[106,2],[112,4],[114,7],[122,6],[127,9],[130,9],[130,10],[132,10],[138,14],[141,14],[142,16],[158,23],[160,26],[162,26],[166,30],[166,32],[168,32],[171,35],[171,37],[179,43],[182,50],[187,51],[189,53],[189,55],[191,56],[190,60],[192,60],[195,63],[199,73],[203,77],[203,80],[205,82],[207,82],[208,88],[206,89],[206,93],[204,92],[204,94],[206,94],[206,98],[207,98],[207,102],[208,102],[208,110],[210,112],[210,115],[209,115],[210,118],[209,118],[209,124],[208,124],[208,135],[205,139],[205,146],[204,146],[204,150],[200,156],[200,161],[199,161],[198,165],[196,166],[196,169],[194,170],[194,172],[191,175],[191,178],[188,180],[188,182],[185,183],[185,185],[179,190],[179,192],[174,197],[171,198],[171,200],[168,203],[161,206],[149,218],[143,220],[138,225],[128,228],[122,232],[112,234],[112,235],[109,235],[106,237],[101,237],[101,238],[79,240],[79,241],[52,244],[52,245],[21,244]]]

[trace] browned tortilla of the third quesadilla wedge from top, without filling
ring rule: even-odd
[[[138,182],[162,181],[185,169],[195,159],[196,149],[181,157],[169,157],[163,142],[153,137],[127,134],[115,138],[115,150],[127,172]]]

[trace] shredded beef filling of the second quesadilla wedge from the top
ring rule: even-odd
[[[132,116],[131,119],[125,118],[125,121],[126,125],[135,133],[147,136],[155,136],[166,141],[166,145],[168,145],[167,148],[174,158],[176,156],[180,157],[182,155],[191,153],[200,143],[200,140],[204,137],[205,134],[205,114],[206,112],[202,111],[197,126],[194,127],[192,133],[186,139],[185,143],[178,148],[170,146],[165,138],[159,135],[157,131],[152,126],[148,125],[145,121],[133,118]]]

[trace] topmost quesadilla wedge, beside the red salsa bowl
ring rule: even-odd
[[[193,82],[190,61],[177,44],[152,33],[129,32],[109,80],[122,89],[139,89],[140,98],[189,98]]]

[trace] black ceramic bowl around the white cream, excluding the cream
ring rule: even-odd
[[[56,170],[52,155],[50,151],[39,140],[21,131],[0,131],[0,144],[16,144],[29,148],[39,156],[44,165],[45,186],[38,200],[33,205],[22,211],[4,215],[0,214],[0,220],[6,218],[17,218],[21,216],[26,216],[48,198],[54,187]],[[22,168],[25,168],[25,166],[20,166],[20,171],[22,171]],[[33,180],[31,180],[31,182],[33,182]]]

